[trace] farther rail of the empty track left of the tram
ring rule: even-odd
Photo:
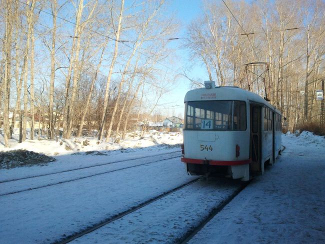
[[[105,162],[105,163],[97,163],[97,164],[94,164],[94,165],[88,165],[88,166],[83,166],[83,167],[78,167],[78,168],[71,168],[71,169],[66,169],[66,170],[61,170],[61,171],[50,172],[50,173],[31,175],[31,176],[26,176],[26,177],[19,177],[19,178],[15,178],[15,179],[0,180],[0,183],[11,182],[11,181],[16,181],[16,180],[21,180],[21,179],[35,178],[35,177],[46,176],[46,175],[57,174],[57,173],[70,172],[70,171],[79,170],[79,169],[92,168],[92,167],[97,167],[97,166],[102,166],[102,165],[107,165],[107,164],[112,164],[112,163],[143,159],[143,158],[147,158],[147,157],[161,156],[161,155],[171,154],[171,153],[175,153],[175,152],[180,152],[180,150],[172,151],[172,152],[159,153],[159,154],[150,155],[150,156],[140,156],[140,157],[135,157],[135,158],[132,158],[132,159],[128,158],[128,159]]]

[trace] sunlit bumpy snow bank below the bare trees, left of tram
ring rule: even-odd
[[[150,130],[140,137],[140,131],[136,132],[133,138],[133,133],[126,135],[125,140],[120,140],[118,143],[105,142],[97,140],[94,137],[72,137],[70,139],[59,138],[56,140],[48,140],[40,138],[39,140],[27,139],[22,143],[18,143],[18,131],[14,131],[12,139],[9,140],[9,148],[4,147],[3,132],[0,130],[0,151],[13,149],[30,150],[45,155],[65,155],[65,154],[80,154],[80,152],[89,151],[111,151],[111,150],[130,150],[134,148],[143,148],[157,145],[173,145],[177,146],[182,143],[182,134],[179,132],[158,132]]]

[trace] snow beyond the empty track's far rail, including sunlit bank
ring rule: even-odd
[[[18,141],[18,131],[15,129],[13,139],[10,139],[10,147],[4,147],[3,133],[0,130],[0,151],[25,149],[53,156],[56,161],[48,163],[44,167],[17,167],[10,170],[1,170],[0,182],[21,177],[45,174],[80,168],[89,165],[96,165],[102,162],[114,162],[140,158],[144,156],[157,155],[166,152],[179,151],[182,143],[182,134],[177,132],[157,132],[155,130],[145,133],[140,139],[140,131],[137,131],[135,138],[133,133],[129,133],[125,140],[120,143],[98,141],[93,137],[76,137],[71,139],[47,140],[29,140],[22,143]],[[89,145],[83,145],[87,140]],[[66,149],[66,146],[71,149]],[[88,152],[97,152],[102,155],[86,154]],[[68,163],[67,163],[68,162]]]

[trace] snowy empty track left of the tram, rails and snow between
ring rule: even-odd
[[[172,155],[169,155],[172,154]],[[161,156],[163,155],[168,155],[166,158],[161,158]],[[181,155],[179,154],[179,152],[168,152],[168,153],[163,153],[163,154],[159,154],[159,155],[155,155],[155,156],[147,156],[147,157],[141,157],[140,159],[143,158],[151,158],[151,157],[158,157],[158,160],[149,160],[148,162],[143,162],[143,163],[138,163],[136,162],[136,159],[129,159],[129,160],[121,160],[121,161],[115,161],[115,162],[109,162],[109,163],[105,163],[105,164],[100,164],[100,165],[96,165],[96,166],[105,166],[108,164],[112,164],[112,163],[117,163],[117,162],[127,162],[127,161],[133,161],[135,160],[135,162],[132,165],[126,166],[126,167],[118,167],[117,168],[110,168],[110,169],[106,169],[106,170],[101,170],[99,172],[95,172],[95,173],[91,173],[91,172],[82,172],[83,176],[80,176],[80,174],[75,175],[65,175],[64,177],[66,177],[66,179],[64,179],[64,177],[61,175],[63,173],[71,173],[72,171],[76,171],[76,170],[83,170],[85,168],[90,168],[90,167],[96,167],[96,166],[89,166],[89,167],[82,167],[82,168],[77,168],[77,169],[73,169],[73,170],[66,170],[66,171],[62,171],[62,172],[56,172],[56,173],[49,173],[49,174],[44,174],[44,175],[39,175],[39,176],[34,176],[34,177],[26,177],[26,178],[22,178],[20,180],[11,180],[11,181],[6,181],[6,182],[2,182],[0,183],[0,196],[4,196],[4,195],[10,195],[10,194],[15,194],[15,193],[19,193],[19,192],[23,192],[23,191],[29,191],[29,190],[34,190],[34,189],[39,189],[39,188],[43,188],[43,187],[47,187],[47,186],[53,186],[53,185],[57,185],[57,184],[62,184],[62,183],[66,183],[66,182],[71,182],[71,181],[75,181],[75,180],[79,180],[79,179],[84,179],[84,178],[89,178],[89,177],[93,177],[93,176],[97,176],[97,175],[101,175],[101,174],[106,174],[106,173],[111,173],[111,172],[115,172],[115,171],[119,171],[119,170],[124,170],[124,169],[128,169],[128,168],[132,168],[132,167],[138,167],[138,166],[142,166],[142,165],[146,165],[146,164],[151,164],[151,163],[156,163],[156,162],[160,162],[163,160],[168,160],[168,159],[172,159],[172,158],[176,158],[176,157],[180,157]],[[109,166],[109,165],[108,165]],[[72,173],[73,173],[72,172]],[[48,176],[51,176],[53,174],[57,174],[57,177],[52,179],[52,178],[48,178]],[[39,180],[38,182],[29,182],[32,183],[34,186],[30,186],[30,184],[28,184],[28,182],[22,182],[22,181],[26,181],[26,180],[34,180],[34,178],[38,177]],[[30,179],[32,178],[32,179]]]

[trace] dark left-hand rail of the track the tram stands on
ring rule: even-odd
[[[70,241],[72,241],[72,240],[74,240],[76,238],[79,238],[79,237],[81,237],[81,236],[83,236],[83,235],[85,235],[87,233],[90,233],[90,232],[92,232],[92,231],[94,231],[94,230],[96,230],[96,229],[110,223],[110,222],[113,222],[113,221],[115,221],[115,220],[117,220],[119,218],[122,218],[123,216],[125,216],[127,214],[130,214],[130,213],[132,213],[132,212],[134,212],[134,211],[136,211],[136,210],[138,210],[138,209],[140,209],[140,208],[142,208],[142,207],[144,207],[144,206],[146,206],[146,205],[148,205],[148,204],[150,204],[150,203],[152,203],[154,201],[157,201],[157,200],[159,200],[159,199],[161,199],[161,198],[163,198],[163,197],[165,197],[165,196],[167,196],[167,195],[169,195],[169,194],[171,194],[171,193],[173,193],[175,191],[178,191],[178,190],[180,190],[180,189],[182,189],[182,188],[184,188],[184,187],[186,187],[188,185],[191,185],[194,182],[197,182],[198,180],[200,180],[200,178],[195,178],[195,179],[193,179],[193,180],[191,180],[191,181],[189,181],[189,182],[187,182],[185,184],[179,185],[179,186],[177,186],[177,187],[175,187],[173,189],[170,189],[170,190],[168,190],[168,191],[166,191],[166,192],[164,192],[164,193],[162,193],[162,194],[160,194],[160,195],[158,195],[158,196],[156,196],[154,198],[146,200],[146,201],[142,202],[141,204],[139,204],[137,206],[133,206],[132,208],[130,208],[130,209],[126,210],[126,211],[123,211],[123,212],[121,212],[119,214],[116,214],[115,216],[112,216],[112,217],[110,217],[108,219],[105,219],[105,220],[101,221],[100,223],[98,223],[96,225],[88,227],[88,228],[86,228],[86,229],[84,229],[84,230],[82,230],[82,231],[80,231],[78,233],[74,233],[73,235],[67,236],[65,239],[55,241],[55,242],[53,242],[53,244],[65,244],[65,243],[68,243],[68,242],[70,242]]]

